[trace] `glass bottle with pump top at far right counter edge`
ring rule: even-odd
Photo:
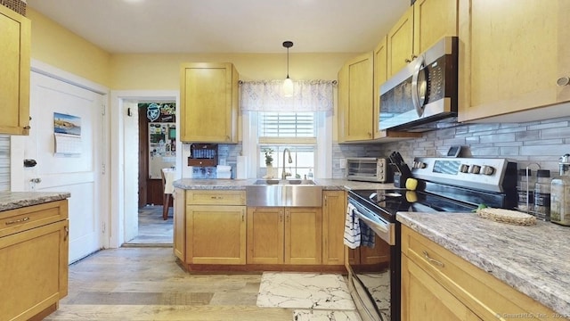
[[[560,158],[560,178],[550,183],[550,221],[570,226],[570,154]]]

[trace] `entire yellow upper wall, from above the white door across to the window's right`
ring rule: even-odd
[[[94,81],[110,90],[179,90],[183,62],[232,62],[241,80],[282,79],[287,53],[107,53],[29,8],[33,59]],[[359,53],[290,53],[289,77],[337,79],[338,70]],[[333,137],[337,136],[337,119]]]

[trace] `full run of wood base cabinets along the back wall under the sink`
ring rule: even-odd
[[[345,191],[323,191],[322,208],[247,208],[245,193],[175,188],[174,254],[187,268],[200,264],[343,268]]]

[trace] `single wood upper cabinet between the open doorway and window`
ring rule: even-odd
[[[238,71],[232,63],[183,63],[180,139],[188,143],[238,142]]]

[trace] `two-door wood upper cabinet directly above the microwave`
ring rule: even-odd
[[[442,37],[458,34],[457,0],[418,0],[387,35],[388,77]]]

